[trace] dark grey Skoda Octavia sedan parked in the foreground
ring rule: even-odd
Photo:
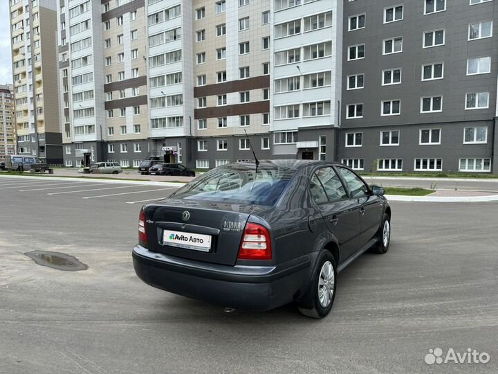
[[[326,161],[220,166],[143,206],[133,266],[145,283],[192,299],[261,311],[297,301],[322,318],[338,272],[389,247],[383,193]]]

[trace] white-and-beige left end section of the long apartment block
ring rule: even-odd
[[[144,0],[61,0],[59,100],[65,166],[149,152]]]

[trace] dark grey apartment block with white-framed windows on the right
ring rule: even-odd
[[[344,1],[342,162],[497,173],[497,19],[492,0]]]

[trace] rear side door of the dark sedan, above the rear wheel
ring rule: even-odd
[[[324,190],[325,198],[320,196]],[[335,235],[340,248],[340,262],[358,250],[360,213],[355,199],[349,198],[343,182],[331,166],[319,168],[311,177],[311,194],[326,226]]]

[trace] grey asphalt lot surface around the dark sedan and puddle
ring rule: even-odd
[[[389,252],[345,269],[316,321],[293,305],[228,314],[145,285],[131,263],[138,201],[172,190],[57,183],[0,177],[0,373],[498,372],[496,203],[393,202]],[[35,249],[89,269],[36,265],[24,255]],[[430,366],[434,348],[490,362]]]

